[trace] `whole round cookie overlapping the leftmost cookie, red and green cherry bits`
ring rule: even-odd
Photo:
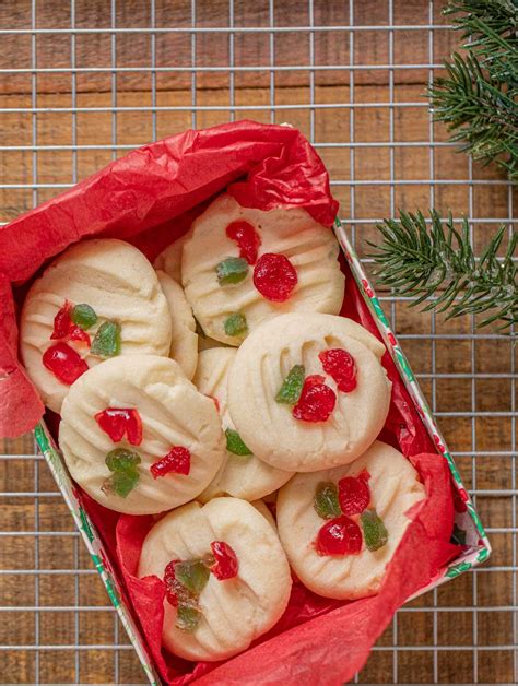
[[[118,512],[152,514],[196,498],[225,456],[220,417],[176,362],[132,355],[70,389],[59,445],[72,477]]]

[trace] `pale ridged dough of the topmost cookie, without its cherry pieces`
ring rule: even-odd
[[[239,256],[236,240],[226,235],[227,226],[236,221],[249,223],[259,236],[259,260],[266,253],[276,253],[292,263],[297,284],[287,300],[272,301],[261,295],[254,285],[254,264],[248,265],[239,283],[220,285],[216,267],[226,258]],[[184,244],[181,279],[195,317],[205,334],[216,341],[236,346],[242,343],[245,332],[225,332],[225,322],[236,314],[245,317],[248,331],[252,331],[271,315],[340,311],[344,275],[337,259],[338,240],[305,210],[262,212],[242,208],[234,198],[223,194],[193,222],[191,230]]]

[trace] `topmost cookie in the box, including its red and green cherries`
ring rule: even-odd
[[[338,240],[305,210],[262,212],[223,194],[191,230],[181,280],[195,317],[216,341],[239,345],[271,315],[340,311]]]

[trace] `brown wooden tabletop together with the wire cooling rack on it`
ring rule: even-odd
[[[250,117],[306,133],[361,255],[399,206],[467,215],[480,250],[496,224],[513,230],[513,189],[432,121],[424,87],[459,40],[440,5],[3,0],[0,218],[152,139]],[[381,296],[494,554],[402,608],[356,681],[516,683],[516,348]],[[2,452],[0,678],[143,682],[32,438]]]

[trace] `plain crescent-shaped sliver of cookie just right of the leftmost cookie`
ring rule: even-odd
[[[179,364],[188,379],[192,379],[198,362],[198,335],[192,310],[179,283],[163,271],[157,270],[156,275],[170,311],[169,357]]]

